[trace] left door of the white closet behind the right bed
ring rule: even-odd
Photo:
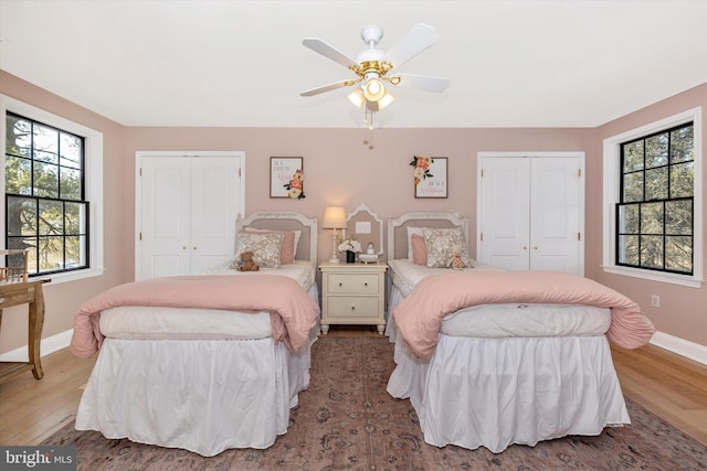
[[[530,159],[484,159],[479,261],[507,270],[528,269]]]

